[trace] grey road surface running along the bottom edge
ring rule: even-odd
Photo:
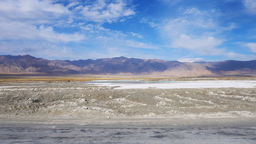
[[[0,143],[256,143],[256,119],[50,124],[0,119]]]

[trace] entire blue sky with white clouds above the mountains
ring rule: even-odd
[[[256,0],[1,0],[0,55],[255,60]]]

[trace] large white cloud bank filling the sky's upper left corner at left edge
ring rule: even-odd
[[[68,7],[51,0],[0,1],[0,39],[46,40],[54,42],[80,41],[82,34],[57,33],[51,24],[61,23],[63,17],[72,23]],[[74,4],[72,4],[74,5]],[[48,25],[48,26],[47,26]],[[36,49],[36,48],[33,48]]]

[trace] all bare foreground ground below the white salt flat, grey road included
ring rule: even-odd
[[[115,88],[81,82],[0,83],[0,139],[255,143],[255,87]]]

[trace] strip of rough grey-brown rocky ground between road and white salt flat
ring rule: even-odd
[[[81,82],[0,83],[1,118],[256,117],[255,88],[115,89]]]

